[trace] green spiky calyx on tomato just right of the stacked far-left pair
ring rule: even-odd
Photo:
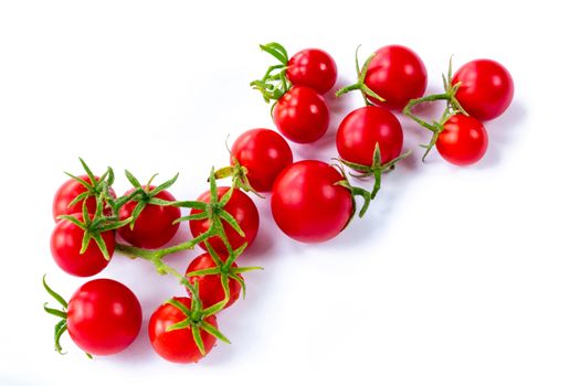
[[[148,204],[165,206],[171,203],[169,201],[156,199],[156,195],[171,187],[176,183],[179,176],[179,173],[177,173],[172,179],[167,180],[166,182],[155,187],[151,186],[151,183],[154,179],[157,176],[157,173],[154,174],[149,179],[149,181],[147,181],[147,184],[145,185],[139,183],[139,181],[135,178],[135,175],[133,175],[128,170],[125,170],[125,176],[133,185],[134,191],[131,192],[131,194],[122,196],[115,201],[115,212],[118,213],[118,210],[130,201],[134,201],[137,203],[130,215],[130,217],[133,217],[133,221],[129,223],[129,228],[133,230],[133,228],[135,227],[135,223],[137,222],[137,218],[139,217],[139,214],[141,214],[141,212],[145,210],[145,207]]]

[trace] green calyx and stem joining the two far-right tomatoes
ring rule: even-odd
[[[432,95],[428,95],[421,98],[411,99],[409,104],[407,104],[407,106],[403,108],[403,114],[405,116],[413,119],[415,122],[418,122],[419,125],[421,125],[422,127],[424,127],[425,129],[432,132],[431,140],[429,141],[429,143],[421,144],[421,147],[425,149],[425,152],[421,159],[423,162],[425,161],[425,158],[431,151],[431,149],[433,149],[433,147],[435,146],[439,139],[439,136],[444,130],[445,122],[456,114],[470,116],[467,111],[463,109],[460,101],[455,97],[455,95],[457,94],[457,90],[460,89],[461,82],[457,82],[454,85],[451,83],[452,60],[453,60],[453,56],[450,57],[447,75],[445,74],[442,75],[444,93],[432,94]],[[430,103],[430,101],[436,101],[436,100],[446,101],[445,108],[443,109],[443,112],[439,120],[429,124],[412,112],[413,107],[415,107],[416,105],[421,105],[421,104]]]

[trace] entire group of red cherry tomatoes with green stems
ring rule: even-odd
[[[65,272],[91,277],[112,258],[127,255],[150,261],[161,275],[173,276],[184,288],[160,304],[149,317],[151,346],[164,358],[177,363],[198,362],[217,341],[229,343],[220,332],[218,314],[245,294],[243,274],[260,267],[240,267],[238,258],[254,242],[260,214],[250,194],[270,194],[271,211],[284,234],[302,243],[321,243],[336,237],[357,214],[362,216],[381,187],[382,174],[408,157],[403,129],[396,114],[403,112],[432,133],[429,151],[436,147],[449,162],[467,165],[483,158],[487,133],[483,121],[500,116],[509,106],[514,84],[507,69],[491,60],[476,60],[455,74],[451,63],[443,76],[443,92],[424,96],[428,75],[416,53],[402,45],[377,50],[358,63],[357,82],[336,96],[360,90],[363,106],[350,111],[336,131],[335,164],[295,162],[286,140],[312,143],[328,130],[329,108],[325,95],[335,86],[337,68],[323,50],[303,50],[288,56],[277,43],[261,45],[276,63],[251,83],[266,103],[274,130],[243,132],[230,150],[230,164],[209,174],[209,189],[194,201],[178,201],[169,190],[178,175],[159,184],[154,175],[141,183],[130,172],[133,187],[117,196],[115,173],[108,168],[95,175],[81,160],[84,174],[68,174],[53,201],[55,227],[51,235],[54,261]],[[414,115],[414,106],[443,100],[441,118],[428,122]],[[346,169],[350,173],[346,172]],[[371,191],[354,185],[355,179],[373,179]],[[226,186],[218,180],[231,178]],[[357,211],[357,197],[362,206]],[[188,211],[183,215],[182,211]],[[171,243],[181,223],[191,238]],[[200,247],[186,272],[164,258]],[[55,349],[67,331],[87,355],[109,355],[129,346],[141,328],[141,307],[123,283],[91,280],[70,301],[57,294],[43,278],[46,291],[60,308],[46,312],[59,318]]]

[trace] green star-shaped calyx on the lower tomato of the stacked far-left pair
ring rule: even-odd
[[[96,211],[94,214],[88,213],[86,202],[84,202],[81,218],[78,218],[78,216],[75,215],[62,215],[59,216],[59,218],[66,219],[73,223],[84,232],[83,240],[81,244],[81,255],[83,255],[86,251],[86,249],[88,248],[88,244],[93,239],[95,240],[96,245],[98,246],[98,249],[103,254],[103,257],[106,260],[110,260],[110,256],[107,250],[107,245],[105,243],[105,239],[103,238],[103,233],[115,230],[117,228],[120,228],[122,226],[129,224],[133,221],[133,217],[119,221],[116,216],[105,216],[103,214],[104,196],[105,193],[102,192],[101,195],[97,197]]]

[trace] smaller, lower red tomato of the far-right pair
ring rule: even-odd
[[[477,119],[457,114],[445,122],[435,146],[446,161],[468,165],[485,156],[487,131]]]

